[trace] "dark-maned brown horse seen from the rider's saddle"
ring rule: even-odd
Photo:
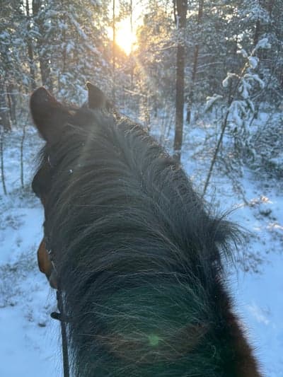
[[[32,183],[45,211],[38,260],[62,291],[72,375],[260,377],[224,268],[241,232],[87,88],[81,108],[45,88],[30,98],[45,140]]]

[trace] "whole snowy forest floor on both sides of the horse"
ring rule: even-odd
[[[42,207],[30,189],[42,142],[28,127],[21,187],[21,131],[4,141],[8,195],[0,189],[0,376],[62,376],[59,323],[50,318],[54,292],[37,269],[42,238]],[[182,162],[196,190],[203,187],[208,163],[195,153],[202,130],[186,132]],[[169,138],[170,139],[170,138]],[[194,151],[194,153],[192,153]],[[267,377],[283,377],[283,198],[279,182],[244,169],[239,197],[231,180],[214,168],[207,198],[219,211],[251,232],[237,266],[229,266],[231,293],[251,344]],[[242,192],[242,193],[243,193]]]

